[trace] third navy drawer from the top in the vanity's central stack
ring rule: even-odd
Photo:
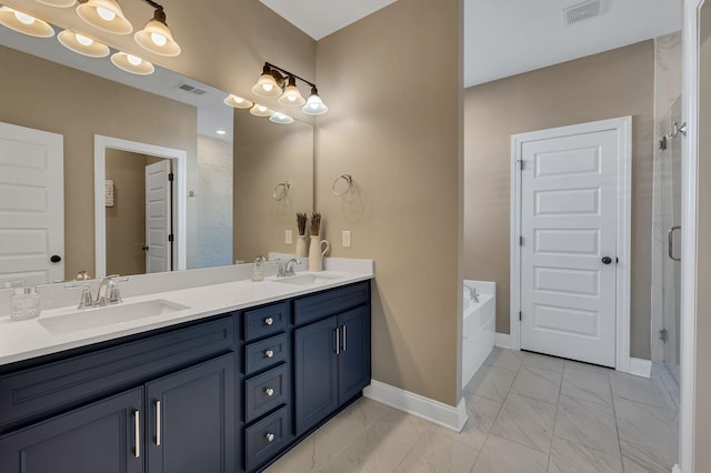
[[[244,382],[244,422],[252,422],[291,397],[290,365],[282,364]]]

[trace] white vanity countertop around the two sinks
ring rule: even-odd
[[[309,272],[299,272],[310,274]],[[67,334],[53,334],[41,323],[48,318],[60,318],[76,312],[70,308],[43,310],[38,319],[13,321],[9,316],[0,318],[0,365],[28,360],[50,353],[113,340],[121,336],[161,329],[183,322],[204,319],[226,312],[309,294],[330,288],[338,288],[358,281],[372,279],[372,273],[323,271],[328,280],[310,285],[291,285],[273,282],[273,276],[262,282],[250,280],[232,281],[198,288],[180,289],[144,295],[124,298],[119,308],[137,302],[166,300],[186,305],[188,309],[169,314],[141,318],[129,322],[114,323],[100,328],[80,330]],[[87,311],[91,311],[88,309]]]

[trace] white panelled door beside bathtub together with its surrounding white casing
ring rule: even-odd
[[[513,135],[511,182],[513,348],[629,372],[631,118]]]

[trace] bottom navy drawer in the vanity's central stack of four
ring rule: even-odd
[[[291,440],[291,414],[281,407],[267,419],[244,430],[244,466],[252,471],[271,460]]]

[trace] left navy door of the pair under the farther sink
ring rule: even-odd
[[[296,423],[301,435],[338,407],[337,318],[294,331]]]

